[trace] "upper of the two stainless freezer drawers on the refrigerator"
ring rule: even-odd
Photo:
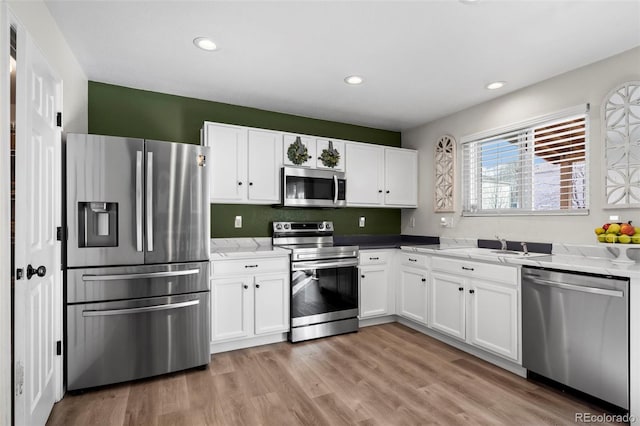
[[[68,304],[207,290],[209,262],[67,270]]]

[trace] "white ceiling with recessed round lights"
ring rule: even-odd
[[[640,0],[47,5],[90,80],[388,130],[640,45]]]

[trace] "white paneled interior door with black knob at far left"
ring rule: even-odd
[[[15,421],[41,425],[61,387],[61,81],[25,31],[17,37]],[[37,273],[29,270],[35,268]]]

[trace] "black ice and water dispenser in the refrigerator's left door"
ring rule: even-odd
[[[78,203],[78,247],[118,246],[118,203]]]

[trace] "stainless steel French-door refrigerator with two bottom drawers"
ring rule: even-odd
[[[69,134],[65,150],[67,389],[208,364],[208,148]]]

